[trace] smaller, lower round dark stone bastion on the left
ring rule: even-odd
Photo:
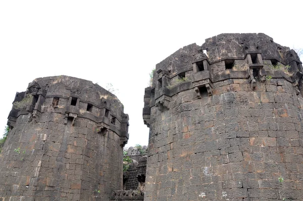
[[[83,79],[45,77],[17,93],[14,105],[0,198],[110,200],[122,189],[128,115],[114,94]]]

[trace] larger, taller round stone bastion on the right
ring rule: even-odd
[[[220,34],[157,64],[144,200],[302,199],[301,72],[262,33]]]

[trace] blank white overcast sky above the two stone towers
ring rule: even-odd
[[[147,145],[144,88],[156,64],[220,33],[303,47],[302,1],[0,1],[0,128],[16,91],[38,77],[112,83],[129,114],[126,146]]]

